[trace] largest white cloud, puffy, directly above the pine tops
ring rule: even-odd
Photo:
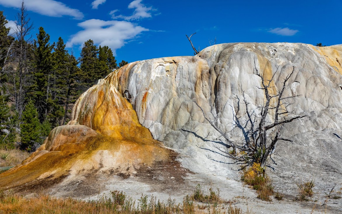
[[[109,46],[114,54],[127,40],[133,39],[141,32],[149,30],[127,21],[103,21],[100,19],[89,19],[79,23],[78,26],[84,30],[71,36],[66,43],[68,48],[73,45],[81,46],[85,41],[92,39],[95,44]]]

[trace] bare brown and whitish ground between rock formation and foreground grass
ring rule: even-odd
[[[144,194],[149,197],[153,195],[161,201],[166,201],[170,197],[181,203],[183,197],[191,194],[195,186],[200,184],[205,191],[210,187],[218,188],[223,199],[230,200],[244,212],[249,210],[250,213],[275,214],[342,213],[342,199],[327,199],[326,195],[330,190],[326,187],[324,191],[321,191],[324,187],[319,182],[314,188],[315,195],[310,198],[310,201],[294,201],[295,181],[291,182],[291,178],[287,177],[287,182],[281,184],[279,172],[271,168],[267,173],[276,180],[275,190],[282,192],[284,199],[278,201],[273,198],[272,202],[262,201],[257,198],[255,190],[241,182],[240,165],[228,164],[227,159],[220,160],[219,156],[208,158],[208,154],[212,155],[212,152],[208,152],[207,154],[195,153],[190,156],[179,156],[172,151],[168,160],[156,161],[150,167],[141,166],[136,169],[137,173],[132,175],[115,172],[115,170],[111,173],[93,170],[91,173],[70,177],[66,172],[60,177],[51,176],[43,180],[34,180],[14,188],[13,191],[28,197],[37,192],[44,192],[55,197],[89,200],[97,199],[103,193],[109,194],[112,190],[119,190],[126,192],[135,200]],[[197,163],[197,168],[194,167],[196,165],[194,162],[199,162],[199,160],[201,164]],[[231,169],[222,171],[223,168]]]

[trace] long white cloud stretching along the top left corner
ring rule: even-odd
[[[25,0],[26,9],[36,13],[61,17],[71,16],[77,19],[84,17],[83,13],[77,9],[68,7],[66,4],[54,0]],[[22,0],[0,0],[0,4],[6,7],[20,8]]]

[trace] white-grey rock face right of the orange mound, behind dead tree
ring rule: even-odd
[[[222,137],[195,102],[207,117],[212,120],[217,117],[216,125],[233,141],[243,142],[247,115],[242,91],[251,104],[250,111],[260,111],[258,107],[264,102],[255,67],[266,80],[277,71],[274,77],[277,91],[294,67],[284,96],[300,95],[287,100],[293,103],[288,110],[308,117],[284,126],[281,135],[294,142],[279,143],[277,165],[272,161],[269,165],[275,171],[274,176],[288,180],[319,175],[318,180],[330,182],[332,178],[325,176],[342,179],[341,56],[339,45],[218,44],[196,56],[130,63],[119,71],[118,90],[130,101],[139,122],[155,139],[188,157],[183,160],[185,166],[194,172],[206,169],[232,175],[232,171],[223,169],[227,165],[221,164],[232,160],[220,152],[223,148],[216,148],[221,146],[218,139]]]

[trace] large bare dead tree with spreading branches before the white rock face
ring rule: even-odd
[[[266,165],[267,158],[269,157],[271,153],[274,152],[279,140],[292,142],[292,140],[282,138],[280,136],[282,125],[286,123],[290,123],[294,121],[295,119],[306,117],[306,115],[290,117],[291,115],[293,115],[293,112],[288,111],[287,107],[291,105],[292,103],[287,103],[286,99],[297,97],[299,95],[288,96],[288,97],[283,96],[284,91],[286,89],[286,83],[291,78],[294,72],[294,67],[292,68],[292,72],[289,75],[287,75],[287,77],[284,79],[284,82],[282,83],[282,87],[280,91],[278,92],[275,90],[275,86],[271,85],[272,82],[274,83],[273,79],[274,79],[275,74],[278,72],[278,69],[273,74],[272,78],[266,81],[256,66],[255,58],[254,58],[254,69],[256,70],[257,75],[261,79],[262,87],[260,89],[264,91],[265,102],[263,106],[259,107],[261,109],[259,114],[255,113],[255,111],[250,112],[248,110],[249,103],[246,100],[245,92],[242,91],[244,104],[246,106],[246,115],[248,118],[247,123],[249,123],[249,125],[246,124],[246,126],[247,125],[249,126],[248,130],[246,131],[248,135],[246,142],[244,143],[233,142],[227,136],[227,133],[224,133],[221,129],[219,129],[215,125],[217,117],[214,118],[214,120],[212,121],[210,118],[206,116],[206,113],[203,111],[203,109],[196,102],[195,103],[203,112],[205,119],[225,139],[225,143],[227,147],[228,148],[232,147],[233,150],[231,150],[231,152],[225,152],[229,157],[235,160],[250,162],[250,163],[260,162],[260,166],[264,168]],[[275,93],[272,94],[272,90],[274,90]],[[271,105],[271,101],[273,100],[275,100],[275,102],[273,102],[275,103],[275,105]],[[273,110],[273,109],[275,112],[274,116],[270,114],[270,110]],[[273,122],[270,122],[267,120],[270,117],[273,118],[272,120]],[[241,153],[240,151],[243,151],[243,152]]]

